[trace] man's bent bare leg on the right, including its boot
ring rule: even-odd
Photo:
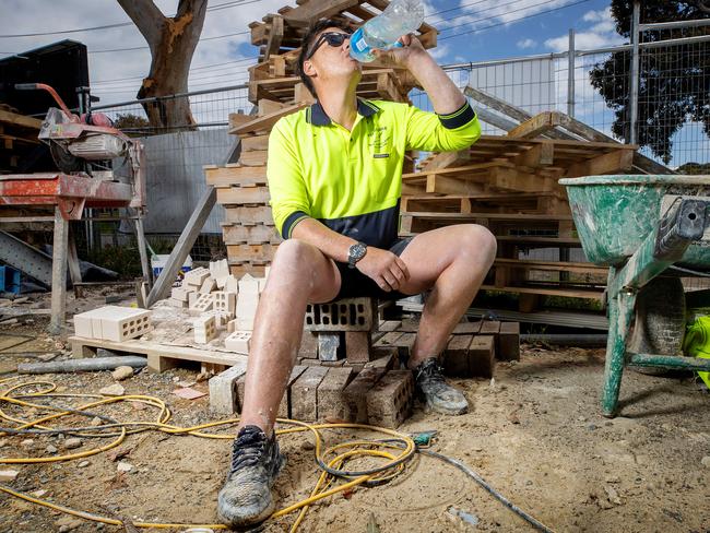
[[[402,252],[410,280],[400,291],[433,288],[407,366],[415,370],[417,392],[439,413],[469,408],[461,391],[446,383],[438,357],[447,339],[481,287],[496,257],[496,239],[483,226],[448,226],[417,235]]]

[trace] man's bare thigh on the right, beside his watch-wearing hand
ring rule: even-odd
[[[461,224],[416,235],[400,254],[410,271],[410,279],[400,287],[400,292],[418,294],[431,288],[441,273],[461,256],[463,249],[475,250],[475,227]],[[480,229],[485,232],[484,228]]]

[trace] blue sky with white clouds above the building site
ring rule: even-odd
[[[190,88],[218,87],[246,80],[245,67],[250,61],[234,61],[251,57],[257,50],[249,44],[248,35],[233,34],[247,31],[249,22],[259,21],[283,5],[295,5],[294,1],[284,0],[238,3],[210,0],[211,8],[221,9],[208,12],[202,36],[209,39],[200,43],[192,61]],[[433,50],[440,63],[565,49],[570,27],[580,33],[579,48],[620,43],[606,10],[610,3],[610,0],[425,0],[427,22],[441,32],[440,44]],[[170,14],[177,1],[156,0],[156,4]],[[123,22],[129,24],[62,35],[3,37],[0,51],[21,52],[62,38],[80,40],[88,47],[92,85],[102,103],[127,100],[135,95],[142,76],[147,73],[150,54],[116,0],[3,0],[0,7],[0,36]],[[486,27],[492,25],[495,26]]]

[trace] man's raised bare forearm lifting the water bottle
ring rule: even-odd
[[[429,96],[434,110],[439,115],[449,115],[465,104],[465,96],[426,50],[412,55],[407,60],[407,69]]]

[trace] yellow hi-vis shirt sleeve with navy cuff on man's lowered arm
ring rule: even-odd
[[[272,216],[276,229],[284,239],[291,238],[296,224],[310,217],[303,168],[295,150],[293,132],[287,130],[288,126],[283,120],[273,127],[269,135],[267,161]]]

